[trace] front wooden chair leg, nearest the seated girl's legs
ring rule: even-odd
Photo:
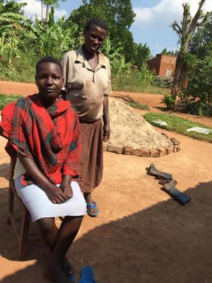
[[[18,241],[19,258],[23,258],[26,254],[29,227],[30,227],[30,212],[28,212],[28,209],[24,208],[21,224],[20,224],[20,238]]]

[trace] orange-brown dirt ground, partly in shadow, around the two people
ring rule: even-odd
[[[26,95],[36,88],[0,82],[0,93],[19,91]],[[112,96],[145,103],[155,111],[164,107],[159,95],[114,92]],[[212,125],[208,118],[189,115],[189,119]],[[212,144],[163,132],[182,142],[181,151],[160,158],[105,152],[104,177],[93,193],[100,215],[85,217],[68,253],[76,279],[84,265],[92,265],[98,283],[212,282]],[[42,265],[47,250],[34,236],[33,226],[28,255],[20,261],[15,235],[6,224],[9,158],[5,144],[0,138],[0,280],[45,283]],[[146,175],[152,162],[172,173],[177,188],[192,197],[191,202],[182,206],[160,190],[158,181]]]

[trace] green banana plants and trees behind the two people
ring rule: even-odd
[[[135,91],[153,85],[155,75],[146,65],[151,51],[146,44],[136,44],[129,31],[135,17],[130,0],[83,0],[67,20],[61,17],[57,22],[54,7],[58,7],[59,1],[42,0],[40,3],[42,12],[44,5],[47,12],[42,13],[41,20],[31,21],[23,16],[22,8],[26,4],[0,0],[1,80],[34,82],[37,60],[46,55],[61,60],[65,52],[82,44],[83,27],[88,19],[100,16],[107,21],[110,30],[102,52],[110,59],[114,89],[122,90],[129,78],[136,86]]]

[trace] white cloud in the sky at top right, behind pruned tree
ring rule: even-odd
[[[170,25],[173,21],[182,19],[182,4],[189,2],[191,6],[192,16],[196,13],[199,0],[161,0],[159,4],[151,8],[136,7],[135,25],[151,24],[151,25]],[[212,11],[212,0],[206,0],[204,11]]]

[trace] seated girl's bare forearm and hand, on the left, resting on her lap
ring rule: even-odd
[[[69,200],[69,197],[64,194],[60,187],[57,187],[56,185],[52,184],[46,178],[46,176],[37,167],[33,158],[28,158],[21,154],[18,154],[18,158],[27,173],[33,180],[35,180],[39,187],[45,191],[47,197],[49,197],[49,200],[51,200],[51,202],[53,202],[54,204],[60,204]]]

